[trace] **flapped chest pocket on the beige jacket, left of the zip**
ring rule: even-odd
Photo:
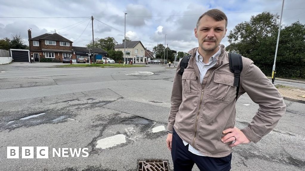
[[[182,75],[182,93],[192,95],[198,94],[198,82],[194,70],[184,70]]]

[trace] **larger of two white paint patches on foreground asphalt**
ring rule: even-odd
[[[110,148],[122,143],[126,142],[126,138],[124,134],[118,134],[118,135],[114,135],[112,137],[107,137],[104,139],[100,139],[99,141],[97,141],[97,145],[96,148],[102,148],[102,149],[106,149],[106,148]]]

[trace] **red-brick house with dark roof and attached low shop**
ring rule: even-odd
[[[76,62],[77,57],[88,57],[87,47],[72,46],[72,41],[57,33],[45,33],[32,38],[31,30],[28,30],[30,57],[34,57],[34,62],[39,62],[41,58],[50,58],[52,62],[62,62],[64,57],[70,57]],[[92,48],[91,48],[92,49]],[[95,56],[106,57],[107,52],[94,48]]]

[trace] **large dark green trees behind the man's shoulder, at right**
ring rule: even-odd
[[[253,60],[265,75],[271,75],[278,37],[279,16],[263,12],[251,16],[250,21],[239,23],[228,35],[226,51],[238,50]],[[300,22],[281,28],[276,70],[278,77],[305,78],[305,26]]]

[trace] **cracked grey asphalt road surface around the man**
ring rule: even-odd
[[[0,170],[134,171],[138,160],[168,160],[166,131],[174,68],[54,68],[12,63],[0,70]],[[126,75],[134,72],[154,75]],[[288,83],[287,83],[288,84]],[[291,83],[289,83],[291,84]],[[277,127],[257,144],[233,148],[236,171],[305,170],[305,104],[285,100]],[[236,127],[246,127],[258,105],[242,95]],[[44,114],[42,114],[44,113]],[[23,119],[38,115],[29,119]],[[96,148],[97,141],[123,134],[126,142]],[[34,147],[34,159],[7,159],[7,147]],[[49,147],[48,159],[36,147]],[[88,157],[52,156],[52,148],[88,148]],[[194,171],[199,169],[194,166]]]

